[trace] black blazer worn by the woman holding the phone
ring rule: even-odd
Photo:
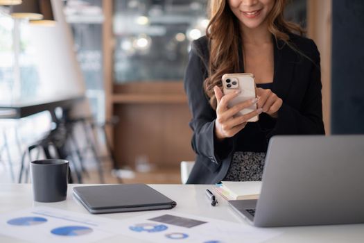
[[[324,134],[320,53],[313,40],[294,34],[290,34],[290,38],[293,47],[306,57],[273,38],[275,68],[272,92],[283,100],[278,118],[262,113],[259,121],[248,123],[242,131],[222,143],[215,139],[216,112],[203,90],[209,62],[209,41],[205,36],[193,41],[184,89],[193,117],[190,126],[196,163],[187,183],[220,182],[227,174],[234,151],[266,151],[273,135]]]

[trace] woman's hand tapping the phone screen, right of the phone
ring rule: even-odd
[[[262,89],[257,87],[257,97],[259,98],[257,106],[262,108],[263,112],[266,112],[271,117],[278,117],[278,110],[282,106],[282,99],[277,97],[277,94],[273,93],[272,90]]]

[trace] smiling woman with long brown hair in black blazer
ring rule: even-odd
[[[184,87],[196,163],[187,183],[259,181],[273,135],[324,134],[320,54],[283,17],[286,0],[214,0],[207,36],[195,40]],[[252,73],[257,99],[227,107],[223,74]],[[236,112],[257,103],[243,117]],[[248,119],[259,115],[259,121]]]

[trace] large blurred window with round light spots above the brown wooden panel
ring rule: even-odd
[[[115,0],[114,78],[181,81],[191,41],[205,35],[206,0]]]

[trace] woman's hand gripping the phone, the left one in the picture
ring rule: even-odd
[[[214,92],[217,101],[215,135],[218,140],[224,140],[226,137],[233,137],[246,126],[249,119],[259,115],[262,112],[262,109],[259,108],[249,112],[248,114],[234,117],[234,115],[236,115],[236,113],[239,111],[252,106],[254,103],[257,103],[258,99],[255,98],[244,101],[232,106],[231,108],[228,108],[227,103],[238,96],[239,91],[224,95],[220,88],[215,86]]]

